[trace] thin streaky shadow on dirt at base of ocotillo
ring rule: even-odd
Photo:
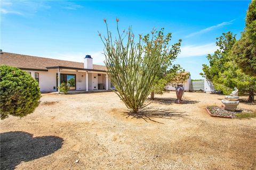
[[[126,118],[137,118],[137,119],[143,119],[146,122],[153,121],[156,123],[161,123],[156,120],[153,120],[152,118],[166,118],[170,119],[172,117],[184,117],[188,116],[187,114],[184,114],[185,112],[174,112],[171,108],[155,108],[155,107],[147,107],[143,108],[142,111],[138,113],[133,112],[123,112],[123,116],[126,116]],[[161,123],[163,124],[163,123]]]

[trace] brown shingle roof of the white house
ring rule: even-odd
[[[1,52],[0,55],[1,65],[10,65],[23,69],[42,69],[47,70],[46,67],[53,66],[65,66],[65,67],[75,67],[84,69],[84,63],[70,62],[65,60],[57,60],[45,57],[36,57],[22,54],[6,53]],[[104,65],[93,64],[94,70],[106,71],[107,67]]]

